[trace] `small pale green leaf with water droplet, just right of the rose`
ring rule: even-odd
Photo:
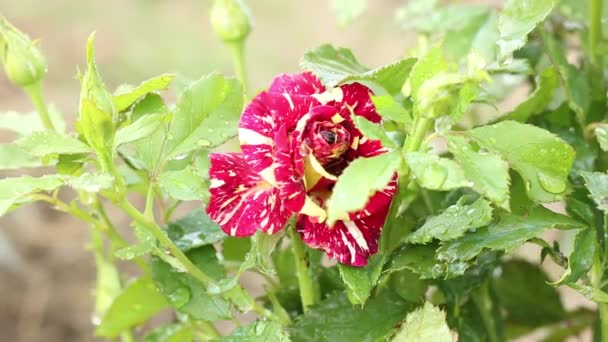
[[[436,154],[409,152],[405,161],[421,186],[430,190],[446,191],[471,186],[464,171],[455,161]]]

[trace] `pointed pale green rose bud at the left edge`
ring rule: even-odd
[[[39,82],[47,70],[36,43],[4,18],[0,18],[0,61],[8,79],[21,87]]]

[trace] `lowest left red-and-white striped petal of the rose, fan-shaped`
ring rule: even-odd
[[[232,236],[251,236],[257,230],[272,234],[287,222],[279,191],[254,172],[240,153],[212,153],[207,214]]]

